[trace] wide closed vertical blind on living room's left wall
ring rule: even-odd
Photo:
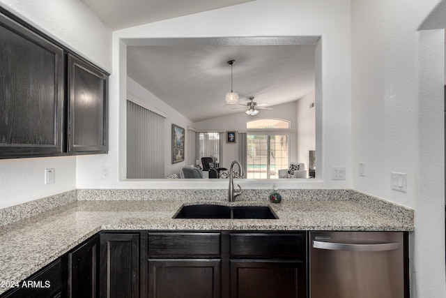
[[[127,100],[127,178],[164,178],[164,117]]]

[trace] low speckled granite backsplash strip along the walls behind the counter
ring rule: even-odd
[[[270,189],[245,189],[238,200],[267,199]],[[282,189],[284,200],[353,200],[372,211],[413,225],[414,211],[352,189]],[[72,202],[86,200],[226,201],[226,189],[76,189],[0,209],[0,226],[30,218]]]

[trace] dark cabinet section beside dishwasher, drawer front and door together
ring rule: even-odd
[[[231,298],[307,297],[305,232],[230,232]]]

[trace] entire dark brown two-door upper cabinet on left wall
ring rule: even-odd
[[[0,7],[0,159],[107,153],[108,75]]]

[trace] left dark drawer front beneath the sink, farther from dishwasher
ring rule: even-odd
[[[148,255],[151,258],[219,256],[220,233],[148,233]]]

